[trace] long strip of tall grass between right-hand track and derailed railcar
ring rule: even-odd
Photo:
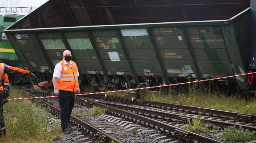
[[[195,90],[193,86],[187,93],[176,93],[172,95],[165,90],[160,94],[147,92],[142,97],[145,100],[256,114],[256,97],[245,100],[240,95],[226,96],[219,92],[204,93]]]

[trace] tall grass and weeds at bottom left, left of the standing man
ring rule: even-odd
[[[10,98],[26,97],[24,93],[11,87]],[[30,100],[9,101],[4,105],[4,117],[7,136],[0,138],[1,143],[45,143],[59,138],[60,128],[50,129],[46,116],[42,113],[46,109],[34,108]]]

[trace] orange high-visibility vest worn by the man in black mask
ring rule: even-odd
[[[77,76],[77,66],[76,63],[70,61],[72,63],[72,67],[66,65],[64,60],[60,61],[62,71],[61,76],[58,78],[58,90],[65,90],[75,92],[78,87],[78,76]]]

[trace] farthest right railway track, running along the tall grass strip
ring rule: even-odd
[[[115,106],[122,109],[138,111],[144,113],[145,115],[154,116],[157,114],[156,118],[164,117],[170,121],[176,121],[184,123],[187,118],[197,117],[202,121],[210,122],[217,127],[227,127],[227,126],[239,126],[244,129],[249,129],[252,131],[256,130],[256,115],[244,114],[223,110],[207,109],[201,107],[193,107],[187,105],[179,105],[172,103],[163,103],[156,101],[138,100],[130,99],[118,96],[105,96],[105,95],[90,95],[87,96],[91,99],[102,99],[101,103]]]

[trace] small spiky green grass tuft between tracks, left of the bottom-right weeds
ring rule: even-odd
[[[192,120],[192,121],[191,121]],[[207,129],[204,127],[203,122],[200,118],[191,118],[187,120],[186,128],[193,132],[206,132]]]

